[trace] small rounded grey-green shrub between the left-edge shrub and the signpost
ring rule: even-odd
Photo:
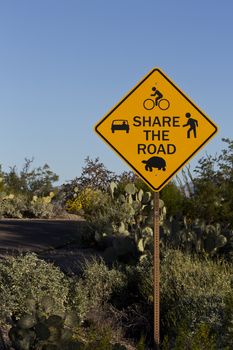
[[[125,284],[125,275],[115,268],[108,268],[102,260],[86,261],[81,277],[73,285],[71,307],[84,317],[90,310],[107,303]]]

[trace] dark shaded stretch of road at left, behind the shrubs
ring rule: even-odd
[[[81,220],[0,220],[0,258],[35,252],[64,272],[77,273],[84,259],[97,255],[80,246],[85,229]]]

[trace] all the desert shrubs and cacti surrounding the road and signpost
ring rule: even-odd
[[[163,350],[233,347],[233,141],[224,142],[160,194]],[[152,191],[99,159],[59,187],[47,165],[31,165],[1,172],[2,217],[81,215],[80,247],[101,258],[76,275],[34,253],[2,260],[5,349],[153,349]]]

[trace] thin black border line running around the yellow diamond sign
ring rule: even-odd
[[[127,98],[132,95],[132,93],[138,89],[140,85],[147,80],[151,74],[158,71],[215,129],[215,131],[175,170],[173,173],[159,186],[154,187],[99,131],[98,127],[122,104]],[[159,192],[171,179],[175,176],[175,174],[184,167],[184,165],[218,132],[217,126],[192,102],[190,99],[159,69],[154,68],[145,78],[140,81],[101,121],[95,126],[96,133],[102,137],[102,139],[114,149],[114,151],[119,154],[119,156],[124,159],[124,161],[155,191]]]

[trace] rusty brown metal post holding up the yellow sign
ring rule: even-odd
[[[154,342],[160,345],[159,192],[154,193]]]

